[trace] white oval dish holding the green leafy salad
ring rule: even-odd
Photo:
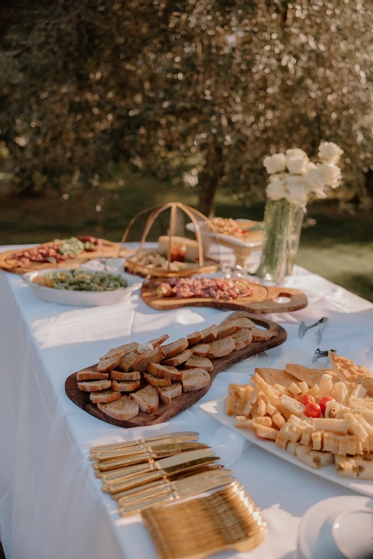
[[[54,289],[35,284],[32,280],[40,275],[50,272],[71,272],[71,268],[51,268],[50,270],[38,270],[22,275],[23,281],[31,287],[36,297],[47,303],[59,303],[59,305],[70,305],[73,307],[97,307],[101,305],[115,305],[128,299],[133,291],[140,289],[141,282],[138,277],[122,273],[127,280],[128,287],[119,291],[67,291],[66,289]],[[87,273],[95,273],[97,270],[84,270]],[[110,272],[112,273],[112,272]]]

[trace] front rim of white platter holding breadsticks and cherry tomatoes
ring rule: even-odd
[[[313,467],[309,467],[295,456],[292,456],[290,453],[286,452],[284,449],[280,449],[277,447],[275,442],[265,439],[260,439],[256,436],[253,430],[251,429],[240,429],[235,427],[235,416],[228,416],[225,410],[225,402],[226,396],[221,396],[217,400],[211,400],[210,402],[205,402],[204,404],[200,404],[200,409],[212,419],[215,419],[222,425],[232,429],[235,433],[238,433],[245,439],[250,442],[253,442],[261,449],[264,449],[278,458],[283,458],[287,460],[291,464],[303,468],[303,470],[307,470],[311,474],[315,474],[316,476],[323,477],[324,479],[328,479],[329,481],[333,481],[335,484],[341,485],[351,491],[357,491],[358,493],[363,493],[363,495],[367,495],[368,497],[373,497],[373,481],[367,481],[363,479],[346,479],[344,477],[340,477],[337,474],[337,470],[335,469],[335,465],[330,465],[326,467],[321,467],[316,470]]]

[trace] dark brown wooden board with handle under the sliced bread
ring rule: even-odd
[[[136,417],[133,419],[129,419],[129,421],[118,421],[117,419],[112,419],[110,416],[101,412],[100,409],[93,404],[91,400],[89,400],[89,392],[83,392],[78,388],[78,382],[76,380],[77,373],[74,372],[73,375],[70,375],[66,379],[65,382],[65,391],[68,395],[68,398],[74,402],[77,406],[81,407],[85,410],[85,412],[105,421],[106,423],[111,423],[112,425],[118,427],[144,427],[148,425],[155,425],[156,423],[163,423],[164,421],[168,421],[171,417],[180,414],[180,412],[184,412],[185,409],[191,407],[191,405],[195,404],[202,398],[205,393],[210,389],[212,381],[217,376],[218,372],[225,370],[226,368],[233,365],[233,363],[237,363],[237,361],[242,361],[243,359],[247,359],[253,355],[259,354],[262,351],[266,351],[271,347],[277,347],[278,345],[283,344],[286,341],[286,331],[284,328],[267,319],[258,318],[255,315],[249,314],[248,312],[237,312],[235,313],[237,317],[247,317],[255,322],[258,326],[263,326],[263,328],[267,329],[270,332],[276,332],[276,335],[267,342],[251,342],[249,346],[245,347],[244,349],[240,349],[238,351],[232,351],[231,354],[218,357],[215,359],[211,359],[212,364],[214,365],[214,370],[210,372],[211,382],[208,386],[203,389],[200,389],[195,392],[183,392],[178,398],[173,398],[170,405],[164,405],[162,402],[159,402],[159,409],[156,410],[153,414],[147,414],[145,412],[139,412]],[[229,318],[233,315],[230,314]],[[224,321],[223,321],[224,322]],[[96,368],[96,364],[92,365],[92,368]],[[141,386],[143,388],[147,382],[145,381],[143,375],[141,379]]]

